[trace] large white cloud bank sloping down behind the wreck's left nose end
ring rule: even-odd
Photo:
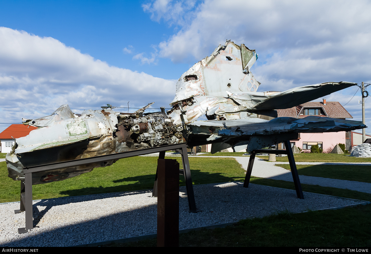
[[[0,27],[0,122],[19,122],[69,104],[75,113],[117,107],[167,106],[175,83],[110,66],[51,37]]]

